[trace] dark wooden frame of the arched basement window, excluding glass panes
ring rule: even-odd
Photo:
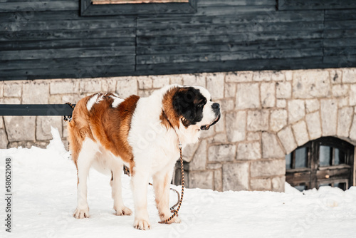
[[[326,145],[332,148],[338,148],[345,152],[345,164],[320,166],[319,148],[320,145]],[[355,185],[355,146],[344,140],[333,137],[319,138],[309,141],[295,150],[308,148],[308,167],[286,168],[286,181],[293,187],[305,185],[306,189],[314,187],[319,188],[320,184],[340,182],[347,180],[346,189]],[[295,150],[291,156],[295,157]],[[333,155],[334,156],[334,155]],[[293,160],[293,159],[292,159]],[[295,162],[294,162],[295,163]],[[293,166],[293,164],[292,164]],[[347,176],[347,178],[345,178]]]

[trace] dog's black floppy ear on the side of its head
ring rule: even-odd
[[[195,88],[180,88],[173,96],[173,108],[185,127],[195,124],[196,110],[194,101],[197,98]]]

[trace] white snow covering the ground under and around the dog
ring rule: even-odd
[[[181,224],[158,224],[152,187],[148,210],[152,229],[132,227],[133,216],[112,209],[110,177],[95,170],[88,180],[90,218],[74,219],[76,170],[58,130],[46,149],[0,150],[0,237],[356,237],[356,187],[321,187],[299,192],[215,192],[186,189]],[[12,232],[4,226],[4,158],[13,162]],[[122,175],[123,197],[133,210],[130,177]],[[176,188],[179,192],[181,187]],[[177,195],[171,192],[171,204]]]

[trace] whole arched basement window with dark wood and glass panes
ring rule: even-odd
[[[303,191],[355,185],[355,147],[333,137],[306,143],[286,155],[286,182]]]

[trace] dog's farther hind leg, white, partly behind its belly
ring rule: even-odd
[[[121,175],[123,165],[118,165],[111,170],[110,186],[112,188],[112,199],[114,200],[114,209],[117,216],[132,214],[131,209],[125,207],[122,200]]]

